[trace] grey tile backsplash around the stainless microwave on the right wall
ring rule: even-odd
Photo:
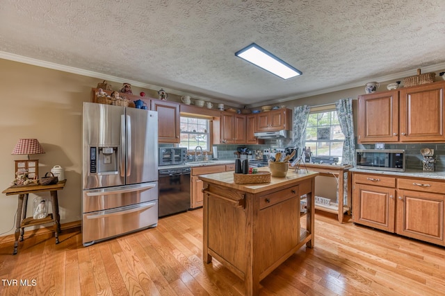
[[[357,149],[373,149],[374,144],[357,144]],[[445,143],[385,143],[385,149],[405,150],[406,168],[421,170],[423,156],[420,153],[422,148],[434,149],[435,171],[445,171]]]

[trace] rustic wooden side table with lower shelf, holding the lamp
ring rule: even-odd
[[[52,185],[29,185],[29,186],[11,186],[8,189],[3,190],[2,193],[6,195],[19,195],[19,202],[17,205],[17,220],[15,223],[15,243],[13,255],[17,254],[17,247],[20,241],[23,241],[24,228],[35,225],[41,225],[44,223],[54,222],[54,236],[56,236],[56,244],[58,241],[58,234],[60,233],[60,216],[58,214],[58,198],[57,191],[62,190],[65,187],[66,180],[60,181],[57,184]],[[29,193],[38,193],[49,191],[51,195],[51,204],[53,212],[48,214],[45,218],[34,219],[33,217],[26,218],[26,208],[28,206]]]

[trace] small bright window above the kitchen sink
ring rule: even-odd
[[[201,146],[203,151],[210,150],[209,120],[181,116],[181,142],[179,147],[195,150]]]

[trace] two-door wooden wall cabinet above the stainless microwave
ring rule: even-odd
[[[357,142],[444,142],[444,87],[439,81],[359,96]]]

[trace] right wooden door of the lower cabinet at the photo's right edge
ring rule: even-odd
[[[444,195],[399,190],[397,234],[444,245]]]

